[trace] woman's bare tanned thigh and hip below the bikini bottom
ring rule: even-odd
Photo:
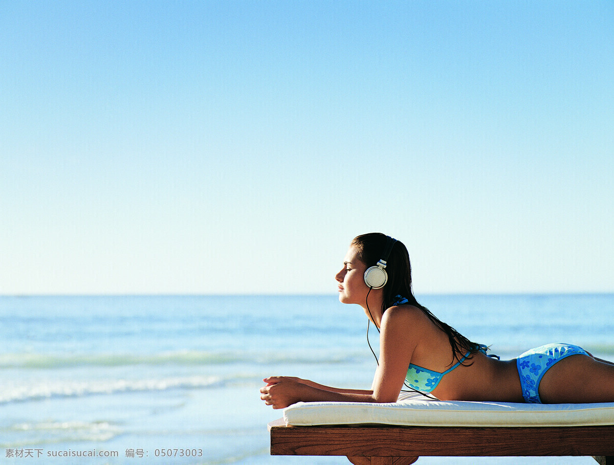
[[[614,364],[570,355],[546,371],[539,385],[544,404],[614,402]]]

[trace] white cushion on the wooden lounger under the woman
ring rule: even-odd
[[[298,402],[284,410],[284,420],[290,426],[600,426],[614,425],[614,403],[433,401],[402,394],[392,404]]]

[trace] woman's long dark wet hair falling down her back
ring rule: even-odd
[[[362,234],[354,237],[351,247],[356,250],[356,257],[362,261],[367,267],[374,266],[382,257],[384,248],[388,242],[388,236],[381,233]],[[480,351],[480,346],[471,342],[467,337],[456,331],[446,323],[443,323],[439,318],[435,317],[429,309],[419,304],[411,289],[411,263],[410,254],[407,248],[397,240],[392,247],[392,252],[386,261],[386,272],[388,281],[383,288],[382,314],[386,309],[391,307],[395,302],[395,297],[400,295],[406,298],[409,305],[418,307],[429,319],[448,335],[450,345],[452,346],[452,361],[461,361],[461,358],[467,352],[476,353]],[[468,356],[471,358],[471,356]]]

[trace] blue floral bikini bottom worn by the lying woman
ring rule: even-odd
[[[558,361],[570,355],[588,355],[588,352],[577,345],[546,344],[523,353],[516,359],[520,385],[523,388],[524,401],[529,404],[541,404],[539,383],[543,375]]]

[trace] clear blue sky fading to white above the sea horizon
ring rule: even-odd
[[[610,1],[0,2],[0,294],[614,291]]]

